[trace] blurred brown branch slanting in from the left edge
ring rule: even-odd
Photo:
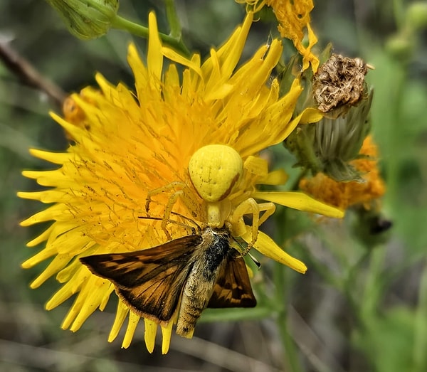
[[[4,65],[18,76],[24,84],[45,92],[56,105],[59,107],[62,106],[67,94],[58,85],[43,78],[28,60],[19,55],[7,43],[0,42],[0,59],[3,60]]]

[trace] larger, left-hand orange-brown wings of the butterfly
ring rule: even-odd
[[[110,280],[120,299],[141,317],[167,323],[191,270],[200,235],[184,236],[147,250],[81,257],[93,274]]]

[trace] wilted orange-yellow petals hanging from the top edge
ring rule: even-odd
[[[312,0],[236,0],[248,4],[249,9],[257,12],[264,5],[270,6],[279,22],[278,30],[283,38],[292,40],[297,51],[302,55],[302,70],[311,64],[315,73],[319,67],[319,59],[312,53],[317,43],[315,32],[310,26],[310,11],[314,8]],[[302,43],[307,29],[308,46]]]

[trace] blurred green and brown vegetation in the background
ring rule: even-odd
[[[204,55],[244,16],[233,0],[176,3],[187,46]],[[320,49],[332,42],[335,52],[359,56],[376,68],[368,74],[375,90],[371,118],[387,184],[382,215],[393,222],[391,230],[367,244],[355,233],[352,212],[344,222],[317,223],[304,213],[279,209],[268,228],[309,267],[305,276],[288,267],[278,275],[278,268],[263,260],[263,288],[283,277],[283,309],[265,319],[214,323],[208,320],[218,317],[206,312],[194,339],[174,335],[167,356],[159,347],[147,353],[142,326],[129,349],[120,349],[120,336],[108,344],[115,304],[95,312],[73,334],[60,329],[72,299],[51,312],[43,309],[58,283],[51,279],[29,289],[47,264],[22,270],[21,262],[39,249],[25,244],[46,226],[19,227],[20,220],[43,208],[16,198],[16,191],[37,188],[21,170],[51,167],[29,156],[28,147],[61,151],[67,142],[48,117],[49,110],[60,111],[56,102],[0,63],[0,370],[427,371],[426,8],[426,1],[324,0],[312,11]],[[122,16],[142,24],[149,9],[157,11],[159,27],[167,33],[162,1],[120,4]],[[254,24],[246,57],[265,43],[268,29]],[[65,92],[94,85],[95,71],[132,87],[125,60],[129,41],[121,31],[80,41],[44,1],[0,2],[0,43],[8,43]],[[136,42],[144,50],[144,41]],[[290,169],[293,159],[283,153],[282,147],[271,151],[275,166]],[[289,363],[291,351],[283,351],[280,316],[288,319],[296,363]]]

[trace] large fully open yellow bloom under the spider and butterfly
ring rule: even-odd
[[[20,192],[19,196],[51,203],[21,223],[28,226],[53,221],[28,243],[30,247],[40,243],[46,246],[23,262],[23,267],[51,259],[31,283],[32,288],[39,287],[53,275],[61,283],[46,309],[76,296],[63,329],[77,331],[95,309],[105,309],[114,291],[112,283],[91,274],[80,257],[152,248],[191,234],[190,220],[202,228],[209,225],[206,200],[192,183],[194,175],[191,178],[189,174],[190,159],[206,145],[222,145],[225,152],[241,157],[243,173],[216,207],[233,237],[246,240],[260,253],[298,272],[306,270],[268,235],[259,232],[254,236],[243,216],[230,217],[246,201],[268,201],[255,203],[255,209],[259,206],[261,211],[266,210],[265,204],[279,203],[342,217],[342,211],[304,193],[257,191],[258,184],[278,185],[285,180],[283,171],[269,173],[258,153],[283,142],[297,124],[315,122],[321,115],[308,109],[292,118],[302,90],[298,80],[284,97],[279,97],[277,81],[266,85],[282,52],[280,41],[261,46],[236,68],[252,21],[249,13],[228,41],[218,50],[212,49],[201,63],[197,54],[187,59],[162,46],[156,18],[149,14],[147,62],[139,58],[133,45],[128,53],[135,95],[125,85],[113,86],[98,74],[100,89],[87,87],[80,95],[73,95],[77,107],[73,102],[68,106],[67,119],[52,114],[73,144],[63,153],[31,149],[33,156],[57,164],[58,169],[23,171],[24,176],[48,189]],[[169,65],[164,66],[168,60]],[[181,76],[176,64],[184,66]],[[139,316],[119,301],[109,341],[115,339],[127,317],[125,348],[130,345]],[[158,325],[147,319],[144,324],[151,352]],[[169,348],[172,326],[173,319],[162,324],[163,353]]]

